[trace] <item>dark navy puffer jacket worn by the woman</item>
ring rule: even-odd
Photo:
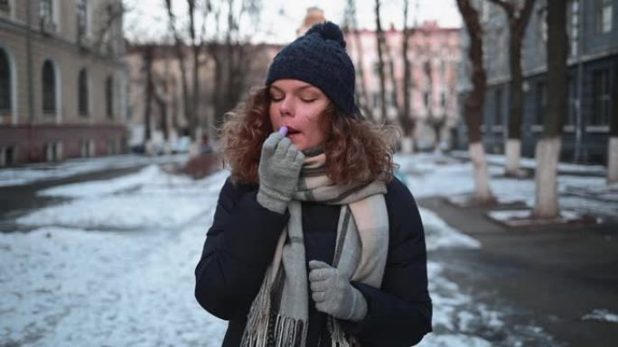
[[[342,322],[363,347],[407,347],[431,332],[423,224],[414,198],[397,178],[387,185],[389,256],[381,288],[352,283],[367,299],[359,323]],[[249,306],[273,258],[289,215],[257,204],[257,187],[226,181],[195,269],[195,297],[212,315],[229,321],[223,347],[238,347]],[[305,259],[332,263],[340,206],[303,203]],[[307,284],[308,285],[308,284]],[[309,297],[307,347],[330,346],[326,315]]]

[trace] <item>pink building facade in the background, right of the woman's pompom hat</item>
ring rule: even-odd
[[[397,123],[403,110],[404,58],[401,30],[392,26],[385,32],[387,119]],[[372,114],[379,114],[379,57],[377,34],[370,30],[359,32],[360,40],[349,33],[348,50],[357,73],[357,88],[361,105]],[[438,145],[450,146],[452,129],[457,125],[457,72],[461,62],[460,31],[443,28],[428,21],[411,29],[407,56],[410,62],[410,117],[414,121],[413,140],[418,150],[430,150]],[[363,95],[364,91],[364,95]],[[438,143],[442,142],[442,143]]]

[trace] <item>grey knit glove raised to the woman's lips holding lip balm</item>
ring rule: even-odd
[[[304,154],[298,151],[292,141],[279,132],[273,132],[262,145],[257,175],[259,205],[279,214],[286,212],[292,199]]]

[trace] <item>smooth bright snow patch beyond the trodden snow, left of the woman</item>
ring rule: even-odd
[[[220,171],[214,177],[224,179],[227,175],[227,172]],[[142,184],[139,184],[140,179]],[[213,192],[208,188],[212,185],[201,186],[200,181],[191,184],[191,178],[174,178],[156,167],[112,179],[109,186],[105,182],[48,189],[45,191],[47,195],[82,198],[42,208],[18,218],[16,222],[28,226],[55,225],[103,230],[170,229],[202,215],[209,208],[207,201]],[[118,192],[127,187],[136,189]],[[117,194],[109,195],[113,192]]]

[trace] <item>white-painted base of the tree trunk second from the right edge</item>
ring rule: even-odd
[[[557,204],[557,163],[560,153],[560,138],[541,139],[537,142],[535,156],[537,170],[535,181],[536,202],[534,215],[540,218],[553,218],[559,214]]]

